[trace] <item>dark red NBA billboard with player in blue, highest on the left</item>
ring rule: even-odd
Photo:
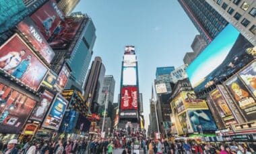
[[[31,19],[36,23],[44,38],[48,40],[59,23],[64,21],[65,15],[59,9],[57,3],[54,0],[50,0],[33,13]]]

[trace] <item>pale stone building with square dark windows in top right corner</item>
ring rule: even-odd
[[[251,0],[206,0],[218,13],[256,46],[256,1]]]

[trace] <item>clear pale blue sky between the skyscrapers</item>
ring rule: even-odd
[[[87,13],[94,22],[94,56],[102,58],[106,74],[116,80],[115,102],[125,45],[135,46],[147,129],[156,67],[181,66],[197,29],[177,0],[81,0],[74,11]]]

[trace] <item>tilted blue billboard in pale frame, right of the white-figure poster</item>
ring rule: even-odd
[[[49,112],[46,114],[44,123],[42,123],[42,127],[58,130],[61,125],[67,104],[67,100],[65,100],[61,94],[57,94]]]

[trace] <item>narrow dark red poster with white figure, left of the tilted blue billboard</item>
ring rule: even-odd
[[[42,93],[40,101],[36,104],[30,119],[42,122],[51,102],[53,101],[53,97],[54,95],[51,94],[51,92],[44,90],[44,93]]]

